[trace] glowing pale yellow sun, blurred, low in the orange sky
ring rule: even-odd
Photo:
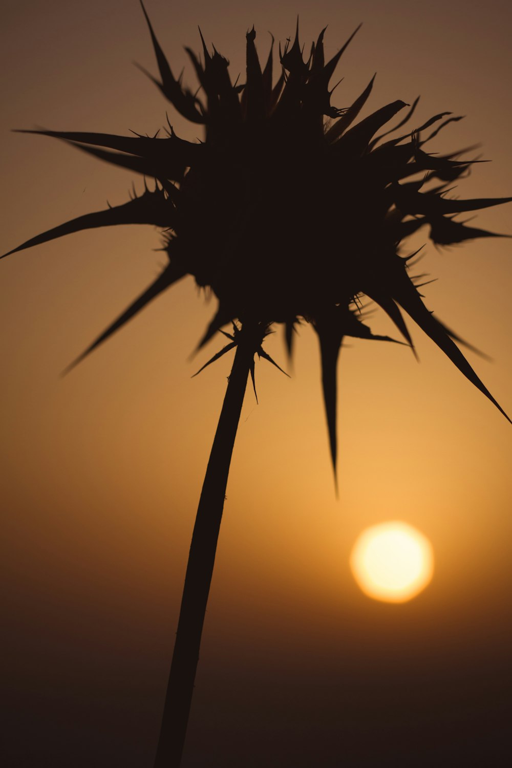
[[[350,567],[369,598],[403,603],[430,583],[434,553],[420,531],[393,520],[362,532],[352,548]]]

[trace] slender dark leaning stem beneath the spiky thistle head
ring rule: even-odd
[[[258,333],[259,329],[255,333],[255,329],[244,327],[237,334],[233,369],[193,528],[154,768],[179,768],[181,762],[236,429],[249,369],[263,336],[263,333]]]

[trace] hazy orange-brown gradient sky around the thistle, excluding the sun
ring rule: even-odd
[[[267,30],[284,41],[297,13],[306,48],[329,24],[332,55],[363,22],[333,103],[350,104],[377,71],[368,109],[421,94],[418,122],[467,115],[431,151],[481,142],[492,162],[474,167],[461,197],[512,194],[508,3],[146,5],[173,71],[185,65],[190,84],[183,45],[199,49],[198,23],[236,77],[253,24],[263,56]],[[170,108],[132,65],[156,72],[135,0],[7,0],[1,34],[3,252],[107,199],[124,202],[132,178],[11,128],[152,134]],[[197,136],[170,119],[182,137]],[[481,212],[477,226],[512,233],[512,207]],[[215,302],[185,280],[68,377],[59,373],[154,278],[158,247],[151,227],[118,227],[0,263],[4,660],[16,768],[153,759],[230,371],[226,356],[190,379],[222,346],[214,339],[187,359]],[[424,289],[427,306],[491,356],[467,353],[509,414],[511,249],[506,239],[440,252],[429,244],[421,263],[439,278]],[[372,326],[392,333],[378,313]],[[414,323],[411,332],[419,364],[398,345],[355,340],[342,350],[339,500],[311,329],[300,329],[292,379],[256,363],[259,406],[248,390],[185,768],[461,756],[508,764],[497,755],[511,703],[512,428]],[[280,329],[268,349],[286,367]],[[431,586],[402,605],[366,598],[348,568],[358,534],[393,518],[423,531],[435,553]]]

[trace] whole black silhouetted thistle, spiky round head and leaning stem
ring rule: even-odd
[[[93,227],[162,227],[169,258],[164,271],[70,368],[188,274],[199,286],[210,286],[218,299],[198,348],[218,331],[229,339],[206,365],[236,350],[193,531],[155,763],[178,766],[239,414],[249,372],[254,384],[255,354],[274,362],[262,346],[270,326],[284,326],[290,355],[297,323],[311,323],[319,336],[334,471],[336,364],[342,339],[393,341],[375,336],[362,323],[362,296],[388,314],[405,339],[402,343],[414,349],[400,308],[405,310],[506,416],[455,344],[464,341],[424,306],[420,286],[408,273],[415,254],[402,257],[399,248],[421,227],[428,227],[432,242],[441,246],[500,237],[467,227],[456,216],[512,198],[448,197],[450,185],[477,161],[460,159],[467,151],[432,155],[424,146],[461,118],[443,112],[391,138],[411,120],[416,99],[398,124],[380,134],[408,104],[393,101],[352,125],[374,78],[350,107],[331,105],[334,89],[329,91],[329,82],[355,32],[325,63],[322,30],[304,61],[297,26],[293,43],[286,41],[283,51],[279,45],[279,79],[274,83],[273,45],[262,70],[252,29],[246,35],[244,84],[232,83],[229,62],[215,48],[210,52],[201,35],[203,60],[186,49],[203,93],[199,98],[183,87],[181,77],[174,77],[144,5],[143,11],[160,81],[148,76],[183,117],[205,127],[205,141],[183,141],[171,126],[165,139],[27,131],[58,137],[101,160],[152,177],[155,187],[145,186],[141,197],[124,205],[48,230],[10,253]],[[228,324],[232,333],[223,330]]]

